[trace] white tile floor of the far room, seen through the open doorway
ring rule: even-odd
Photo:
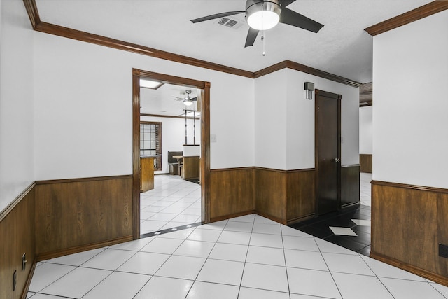
[[[154,176],[154,189],[140,193],[140,233],[201,221],[201,186],[180,176]]]

